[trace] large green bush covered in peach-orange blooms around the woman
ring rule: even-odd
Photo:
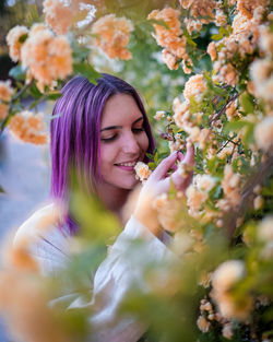
[[[87,1],[44,1],[51,28],[16,26],[7,36],[20,86],[0,83],[1,128],[46,143],[40,115],[23,111],[20,98],[32,95],[34,108],[60,96],[61,81],[74,73],[94,81],[93,67],[108,68],[96,62],[97,47],[129,81],[144,63],[152,76],[147,72],[140,85],[149,93],[153,80],[156,89],[150,98],[161,141],[153,161],[138,165],[138,177],[146,180],[187,142],[194,145],[195,166],[186,197],[171,189],[153,203],[174,236],[177,264],[169,270],[146,260],[151,294],[132,292],[123,310],[150,323],[147,340],[272,341],[272,8],[266,0],[163,2],[136,15],[128,0],[117,7],[106,1],[95,16]],[[83,9],[92,17],[79,26]]]

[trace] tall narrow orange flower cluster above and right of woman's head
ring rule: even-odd
[[[179,15],[180,11],[171,8],[166,8],[162,11],[154,10],[149,14],[150,20],[163,21],[167,25],[165,27],[161,24],[153,24],[156,43],[164,48],[163,60],[170,70],[178,69],[180,60],[186,61],[189,66],[192,64],[186,51],[187,39],[182,36]],[[190,72],[191,68],[189,68],[187,73]]]

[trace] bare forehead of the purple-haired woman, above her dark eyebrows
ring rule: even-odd
[[[104,128],[106,126],[130,125],[141,116],[142,113],[133,96],[129,94],[115,94],[106,102],[100,126]]]

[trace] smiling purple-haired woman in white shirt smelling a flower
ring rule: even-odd
[[[138,185],[134,166],[138,162],[146,162],[145,154],[154,150],[149,120],[138,93],[112,75],[103,74],[96,85],[82,76],[72,79],[56,102],[54,116],[51,196],[55,202],[60,200],[67,204],[67,214],[61,227],[57,227],[60,225],[57,222],[49,234],[39,236],[32,246],[31,252],[44,274],[58,272],[66,264],[67,237],[80,228],[68,210],[70,168],[75,168],[81,187],[91,196],[96,193],[122,221],[122,208]],[[170,178],[178,190],[186,190],[190,177],[182,178],[178,170],[168,176],[177,161],[182,161],[181,153],[165,158],[142,188],[133,215],[127,223],[122,222],[126,224],[123,232],[96,272],[92,302],[86,304],[78,298],[70,305],[70,308],[92,305],[94,341],[135,342],[145,331],[145,327],[134,319],[117,315],[119,304],[141,278],[140,272],[132,271],[123,252],[128,241],[142,237],[151,250],[151,258],[170,257],[163,244],[166,234],[157,222],[152,202],[155,196],[168,191]],[[192,148],[188,149],[183,162],[193,163]],[[36,212],[20,227],[14,244],[20,245],[26,235],[34,235],[43,217],[54,210],[55,204],[50,204]]]

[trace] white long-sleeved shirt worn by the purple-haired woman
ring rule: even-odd
[[[52,204],[37,211],[17,231],[15,244],[23,235],[33,229],[43,215],[52,210]],[[29,233],[28,233],[29,234]],[[69,262],[69,234],[55,227],[33,244],[31,253],[38,262],[44,275],[58,274]],[[133,241],[143,243],[134,248]],[[136,342],[147,327],[139,323],[133,317],[119,317],[118,308],[132,287],[149,291],[143,272],[146,261],[171,261],[173,253],[163,241],[169,239],[166,233],[162,238],[155,237],[134,216],[126,224],[124,229],[111,246],[107,258],[98,267],[94,278],[93,298],[86,303],[79,295],[69,308],[92,306],[94,315],[90,321],[95,331],[92,341],[96,342]],[[141,250],[139,250],[141,248]],[[128,252],[130,252],[130,258]]]

